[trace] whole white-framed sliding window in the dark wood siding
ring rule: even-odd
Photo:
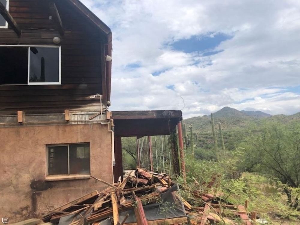
[[[2,45],[0,70],[0,85],[61,84],[61,48]]]

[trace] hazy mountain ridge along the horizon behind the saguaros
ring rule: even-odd
[[[239,111],[230,107],[224,107],[221,110],[214,112],[213,116],[215,125],[221,123],[223,130],[231,130],[236,127],[246,127],[251,122],[257,122],[262,119],[282,122],[288,122],[291,120],[300,121],[300,112],[293,115],[270,115],[262,111]],[[183,122],[187,125],[193,124],[194,130],[196,131],[211,132],[211,124],[209,123],[210,119],[210,115],[203,115],[185,119]]]

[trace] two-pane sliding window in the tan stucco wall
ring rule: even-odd
[[[47,145],[47,176],[89,174],[89,143]]]

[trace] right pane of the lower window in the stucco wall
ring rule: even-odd
[[[89,144],[70,145],[70,174],[90,174]]]

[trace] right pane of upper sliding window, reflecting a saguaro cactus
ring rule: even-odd
[[[29,82],[59,82],[59,48],[30,47]]]

